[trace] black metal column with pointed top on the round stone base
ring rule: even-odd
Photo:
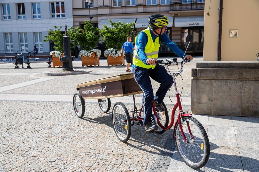
[[[73,61],[75,57],[71,57],[70,55],[70,37],[67,36],[67,25],[65,27],[65,36],[63,36],[63,48],[64,48],[64,56],[60,57],[59,60],[63,62],[62,67],[63,71],[74,71],[73,69]]]

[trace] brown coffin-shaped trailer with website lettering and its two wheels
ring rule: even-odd
[[[111,108],[110,98],[142,93],[132,73],[77,84],[77,90],[79,93],[74,94],[73,105],[79,118],[85,114],[85,99],[98,99],[99,107],[107,113]]]

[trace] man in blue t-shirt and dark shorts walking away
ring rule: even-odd
[[[130,63],[132,64],[134,46],[131,43],[131,37],[130,36],[127,38],[127,41],[124,42],[124,44],[122,46],[121,54],[120,54],[121,56],[123,55],[123,50],[125,50],[125,56],[126,56],[126,61],[127,61],[126,72],[131,72]]]

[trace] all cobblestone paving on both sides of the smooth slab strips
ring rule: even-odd
[[[188,70],[185,74],[189,76],[182,75],[185,81],[182,97],[190,97],[190,70],[195,64],[195,60],[186,64]],[[76,84],[126,73],[125,65],[108,67],[107,60],[100,60],[100,67],[84,68],[92,72],[81,75],[45,76],[44,71],[62,68],[48,68],[43,63],[34,63],[31,67],[15,69],[12,64],[1,65],[0,72],[4,75],[0,77],[0,87],[38,78],[53,79],[2,91],[0,96],[73,95],[78,92]],[[73,67],[82,68],[81,61],[74,61]],[[176,66],[170,68],[178,71]],[[159,85],[152,81],[154,92]],[[173,94],[174,90],[170,95]],[[136,103],[140,108],[141,102]],[[133,110],[133,103],[125,105],[128,111]],[[112,126],[112,106],[105,114],[97,101],[87,103],[85,116],[80,119],[75,115],[71,102],[1,101],[0,172],[167,171],[175,149],[172,130],[164,134],[146,134],[144,127],[133,125],[130,140],[123,143],[116,137]],[[190,105],[185,108],[190,110]],[[167,106],[167,109],[170,116],[172,107]]]

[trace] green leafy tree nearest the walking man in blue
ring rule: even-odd
[[[120,51],[123,43],[127,41],[127,37],[131,36],[134,30],[134,28],[131,27],[134,26],[135,23],[123,24],[122,21],[116,23],[111,20],[109,20],[109,22],[112,27],[110,28],[109,26],[103,25],[104,29],[100,29],[100,35],[103,37],[107,48],[114,48]]]

